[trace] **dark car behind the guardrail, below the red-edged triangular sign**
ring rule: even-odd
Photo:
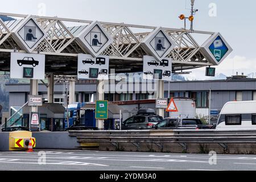
[[[165,118],[156,126],[156,130],[206,130],[212,129],[213,125],[203,125],[200,119],[195,118]]]

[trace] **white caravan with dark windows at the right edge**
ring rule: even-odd
[[[256,101],[226,103],[216,130],[256,130]]]

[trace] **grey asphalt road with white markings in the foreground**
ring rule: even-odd
[[[45,153],[44,153],[45,152]],[[100,151],[0,152],[0,170],[242,171],[256,170],[256,155],[209,155]],[[44,158],[46,156],[46,158]]]

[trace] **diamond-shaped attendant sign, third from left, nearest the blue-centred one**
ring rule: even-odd
[[[161,61],[174,49],[175,42],[166,34],[162,27],[159,27],[143,40],[142,46],[148,53]]]

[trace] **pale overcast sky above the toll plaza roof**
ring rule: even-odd
[[[183,27],[180,14],[189,14],[185,0],[9,0],[1,3],[4,13],[42,13],[46,5],[47,16],[99,20],[106,22],[142,24],[171,28]],[[217,15],[209,16],[209,5],[214,3]],[[187,0],[187,8],[190,0]],[[232,46],[232,54],[217,67],[217,73],[231,76],[233,72],[256,72],[256,1],[196,0],[195,30],[221,32]],[[197,69],[189,77],[204,79],[205,69]]]

